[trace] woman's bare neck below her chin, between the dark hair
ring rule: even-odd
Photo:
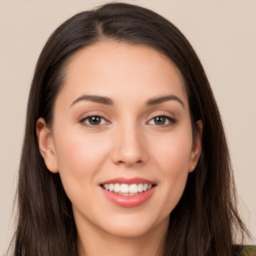
[[[95,226],[86,225],[83,229],[78,225],[78,255],[161,256],[168,223],[163,221],[160,225],[136,237],[115,236],[95,229]]]

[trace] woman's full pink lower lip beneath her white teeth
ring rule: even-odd
[[[110,192],[103,187],[100,188],[102,189],[102,192],[104,193],[106,198],[114,204],[121,207],[136,207],[149,199],[149,197],[153,194],[155,187],[156,185],[154,185],[149,190],[146,190],[145,192],[136,195],[122,195]]]

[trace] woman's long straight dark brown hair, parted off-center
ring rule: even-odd
[[[184,35],[155,12],[126,3],[108,3],[80,12],[49,37],[33,75],[17,187],[13,255],[77,255],[71,202],[59,174],[47,170],[35,131],[48,125],[70,57],[101,40],[143,44],[166,55],[180,70],[192,125],[203,123],[202,153],[188,174],[183,195],[170,213],[164,256],[231,256],[237,232],[247,232],[238,216],[232,167],[221,117],[203,67]],[[237,252],[238,255],[238,252]]]

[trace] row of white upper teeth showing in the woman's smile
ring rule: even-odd
[[[119,184],[119,183],[110,183],[110,184],[103,184],[102,185],[106,190],[116,192],[122,195],[134,195],[138,192],[143,192],[149,190],[153,185],[146,184],[146,183],[139,183],[139,184]]]

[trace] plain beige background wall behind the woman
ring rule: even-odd
[[[40,50],[72,14],[99,0],[0,0],[0,254],[11,209],[28,89]],[[256,0],[127,0],[162,14],[198,53],[216,96],[240,211],[256,237]],[[249,243],[256,243],[255,238]]]

